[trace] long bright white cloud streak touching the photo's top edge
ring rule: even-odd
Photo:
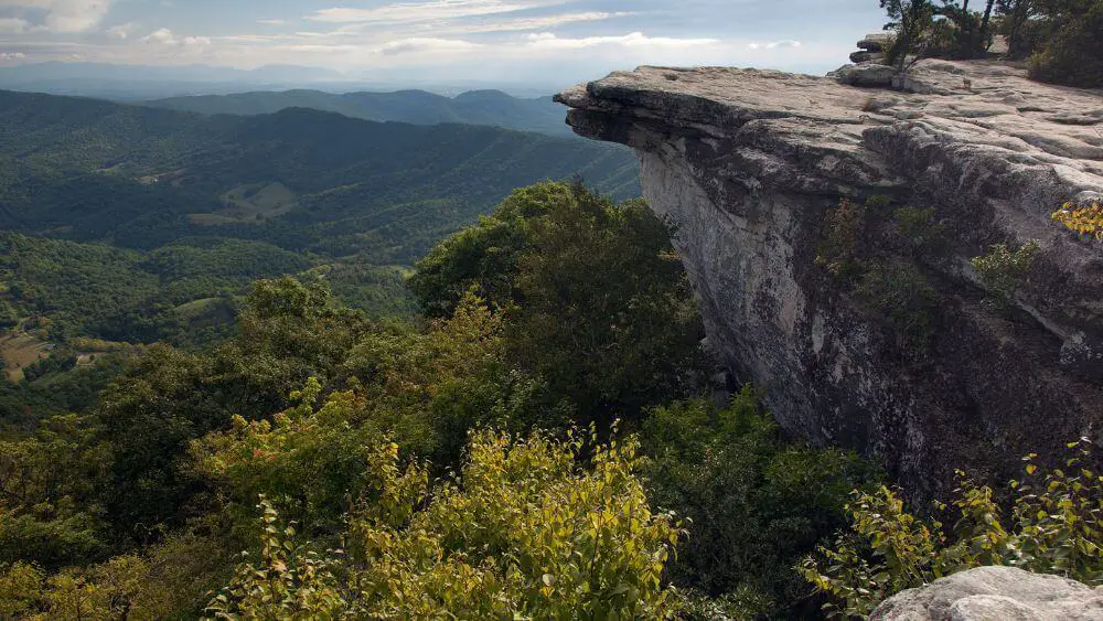
[[[561,3],[563,0],[433,0],[394,3],[375,9],[339,7],[307,15],[308,20],[329,23],[414,23],[512,13]]]

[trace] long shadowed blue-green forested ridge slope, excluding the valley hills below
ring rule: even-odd
[[[514,188],[639,194],[624,149],[304,108],[235,117],[0,92],[0,228],[151,249],[233,237],[409,264]]]

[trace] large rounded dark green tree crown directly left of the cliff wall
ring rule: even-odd
[[[638,417],[704,376],[685,271],[641,202],[564,183],[518,190],[418,263],[410,287],[432,314],[471,287],[507,309],[508,360],[583,416]]]

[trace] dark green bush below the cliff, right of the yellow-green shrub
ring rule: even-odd
[[[790,568],[846,523],[849,492],[877,479],[854,453],[784,441],[750,387],[722,410],[703,401],[655,409],[643,447],[652,502],[687,523],[672,580],[722,596],[690,608],[720,606],[735,618],[783,613],[805,597]]]

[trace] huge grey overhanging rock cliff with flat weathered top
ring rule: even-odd
[[[885,458],[920,497],[955,467],[997,478],[1103,427],[1103,244],[1050,220],[1103,192],[1103,94],[998,63],[924,61],[834,77],[641,67],[568,89],[568,122],[629,144],[676,227],[709,341],[784,429]],[[816,265],[840,197],[936,207],[946,260],[934,335],[908,354],[884,309]],[[1041,253],[1010,310],[968,263]]]

